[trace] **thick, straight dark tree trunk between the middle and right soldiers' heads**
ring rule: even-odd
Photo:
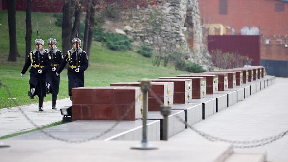
[[[62,50],[63,53],[71,49],[71,0],[63,0],[63,19],[62,19]]]

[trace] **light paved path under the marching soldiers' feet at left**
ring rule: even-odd
[[[38,104],[25,105],[21,108],[26,112],[38,126],[49,125],[62,120],[60,109],[51,108],[52,101],[44,102],[44,111],[38,111]],[[57,108],[71,106],[72,102],[67,99],[57,100]],[[35,128],[22,115],[19,108],[1,108],[0,109],[0,137],[12,133],[17,133]]]

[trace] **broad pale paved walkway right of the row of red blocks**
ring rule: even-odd
[[[236,105],[194,125],[208,134],[231,140],[253,140],[288,130],[288,79],[276,82]],[[205,140],[190,129],[170,141]],[[262,147],[235,149],[236,152],[267,151],[268,162],[288,162],[288,135]]]

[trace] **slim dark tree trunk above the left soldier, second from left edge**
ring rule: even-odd
[[[32,24],[31,24],[31,6],[32,0],[27,0],[27,7],[26,7],[26,51],[25,51],[25,58],[28,57],[31,51],[31,37],[32,37]]]

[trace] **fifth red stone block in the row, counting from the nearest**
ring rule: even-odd
[[[197,74],[197,73],[191,73],[191,74],[181,74],[177,75],[178,77],[206,77],[207,85],[207,94],[214,94],[218,91],[218,75],[213,74]]]

